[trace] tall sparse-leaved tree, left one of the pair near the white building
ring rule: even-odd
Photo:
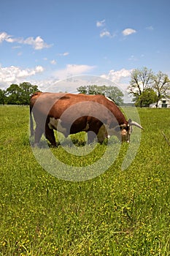
[[[134,96],[133,101],[139,102],[139,106],[142,108],[142,93],[149,89],[153,83],[152,69],[144,67],[142,69],[134,69],[131,72],[130,86],[128,86],[129,93]]]

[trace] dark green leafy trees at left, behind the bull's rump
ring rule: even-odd
[[[12,83],[7,90],[0,89],[0,104],[29,105],[31,94],[39,91],[38,86],[31,83]]]

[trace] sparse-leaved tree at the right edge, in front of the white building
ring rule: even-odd
[[[163,74],[163,72],[161,71],[159,71],[157,75],[154,75],[153,80],[153,89],[155,89],[158,96],[158,99],[156,101],[157,108],[159,99],[163,97],[168,97],[170,91],[170,80],[168,75]]]

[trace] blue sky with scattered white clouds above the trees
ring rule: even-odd
[[[142,67],[170,76],[169,13],[169,0],[1,1],[0,88],[95,75],[126,89]]]

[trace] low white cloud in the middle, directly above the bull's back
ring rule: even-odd
[[[67,64],[65,69],[58,70],[54,75],[58,79],[64,79],[69,76],[82,75],[85,72],[90,72],[94,68],[95,66]]]

